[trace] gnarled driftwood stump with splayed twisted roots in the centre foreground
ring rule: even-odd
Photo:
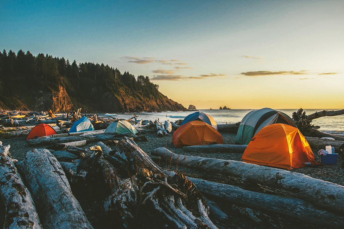
[[[108,215],[117,215],[128,228],[217,228],[205,199],[185,176],[166,175],[127,137],[116,151],[127,163],[126,173],[102,158],[97,162],[112,192],[105,201]]]

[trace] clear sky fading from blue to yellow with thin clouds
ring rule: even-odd
[[[149,76],[186,108],[344,108],[344,1],[6,1],[1,49]]]

